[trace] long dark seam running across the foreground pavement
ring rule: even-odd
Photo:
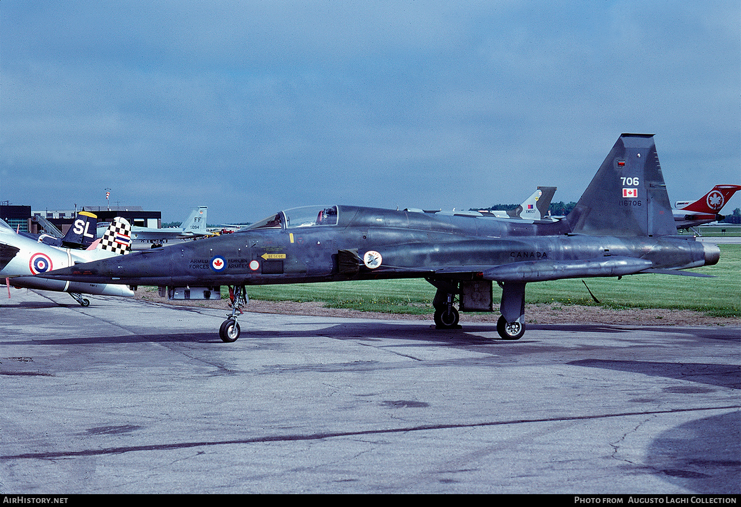
[[[70,458],[70,457],[81,457],[81,456],[100,456],[104,454],[124,454],[127,452],[136,451],[173,451],[177,449],[192,448],[192,447],[205,447],[212,445],[241,445],[250,443],[265,443],[265,442],[293,442],[301,440],[323,440],[325,438],[333,437],[356,437],[360,435],[370,434],[392,434],[392,433],[407,433],[410,431],[432,431],[439,429],[455,429],[455,428],[476,428],[485,426],[498,426],[498,425],[511,425],[511,424],[522,424],[528,422],[560,422],[560,421],[577,421],[577,420],[591,420],[591,419],[605,419],[608,417],[628,417],[636,415],[648,415],[648,414],[679,414],[681,412],[692,412],[692,411],[708,411],[708,410],[728,410],[731,408],[741,408],[741,405],[726,405],[722,407],[702,407],[702,408],[677,408],[671,410],[657,410],[657,411],[637,411],[637,412],[621,412],[618,414],[597,414],[597,415],[586,415],[586,416],[572,416],[572,417],[544,417],[540,419],[519,419],[519,420],[507,420],[507,421],[489,421],[489,422],[471,422],[465,424],[436,424],[436,425],[421,425],[411,426],[408,428],[387,428],[377,430],[363,430],[363,431],[336,431],[328,433],[315,433],[305,435],[267,435],[265,437],[254,437],[247,439],[238,440],[215,440],[213,442],[182,442],[182,443],[169,443],[169,444],[150,444],[150,445],[129,445],[125,447],[109,447],[102,449],[87,449],[84,451],[57,451],[57,452],[37,452],[37,453],[25,453],[25,454],[6,454],[0,455],[0,460],[55,460],[59,458]]]

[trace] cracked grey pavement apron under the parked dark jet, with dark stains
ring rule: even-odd
[[[0,314],[7,494],[740,492],[739,327]]]

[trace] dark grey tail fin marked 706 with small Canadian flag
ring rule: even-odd
[[[565,221],[592,236],[677,234],[653,134],[622,134]]]

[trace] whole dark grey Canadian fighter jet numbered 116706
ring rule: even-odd
[[[437,288],[436,326],[455,328],[459,311],[493,311],[497,282],[502,287],[497,331],[503,339],[519,339],[529,282],[689,274],[677,270],[718,259],[717,245],[678,236],[654,136],[622,134],[574,211],[557,222],[344,205],[294,208],[227,236],[39,276],[126,285],[230,285],[232,311],[219,330],[225,342],[239,337],[237,316],[248,285],[425,278]]]

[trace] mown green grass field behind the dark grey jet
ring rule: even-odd
[[[703,233],[704,234],[704,233]],[[584,279],[605,308],[678,308],[705,311],[717,317],[741,313],[741,245],[720,245],[720,262],[691,271],[716,278],[642,274]],[[222,294],[227,296],[225,288]],[[333,308],[354,308],[404,314],[431,314],[435,288],[423,279],[251,286],[252,299],[322,301]],[[494,305],[501,289],[494,284]],[[596,305],[582,279],[529,283],[529,303]]]

